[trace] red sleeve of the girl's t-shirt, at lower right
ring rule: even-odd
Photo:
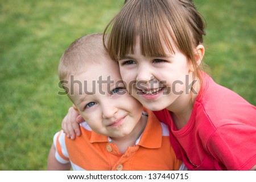
[[[256,128],[242,124],[221,126],[207,147],[228,170],[250,170],[256,164]]]

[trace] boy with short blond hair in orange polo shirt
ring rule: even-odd
[[[181,161],[166,125],[129,95],[101,34],[73,42],[59,64],[59,78],[86,122],[81,136],[55,134],[47,170],[179,170]],[[84,88],[84,89],[82,89]],[[146,112],[147,113],[146,113]]]

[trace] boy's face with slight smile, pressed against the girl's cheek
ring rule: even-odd
[[[118,64],[110,58],[104,59],[75,75],[74,84],[69,84],[74,94],[69,97],[94,132],[125,137],[141,120],[143,107],[126,91]]]

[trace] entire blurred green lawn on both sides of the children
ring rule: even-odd
[[[207,20],[204,61],[213,79],[256,104],[254,0],[195,1]],[[78,37],[102,32],[122,0],[0,0],[0,170],[45,170],[71,102],[57,65]]]

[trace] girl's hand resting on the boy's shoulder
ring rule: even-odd
[[[67,115],[62,120],[61,128],[68,138],[75,139],[76,136],[79,137],[81,134],[79,123],[83,121],[84,118],[73,107],[70,107]]]

